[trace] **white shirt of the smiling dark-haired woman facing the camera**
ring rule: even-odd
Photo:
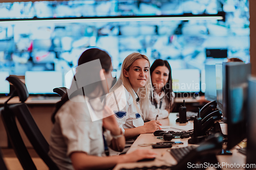
[[[167,110],[165,110],[167,104],[165,102],[164,96],[165,96],[165,93],[163,91],[160,95],[157,94],[156,96],[154,96],[157,102],[157,107],[150,101],[150,109],[149,109],[149,114],[147,116],[147,120],[155,120],[157,114],[158,114],[158,119],[168,117],[169,113]],[[172,92],[172,105],[174,104],[174,96],[175,94],[174,92]]]

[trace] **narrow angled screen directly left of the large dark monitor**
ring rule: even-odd
[[[217,108],[223,113],[223,66],[216,64],[216,93],[217,93]],[[224,114],[224,113],[223,113]]]

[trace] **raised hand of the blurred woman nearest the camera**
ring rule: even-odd
[[[105,129],[110,130],[112,135],[120,135],[120,128],[118,126],[118,123],[116,121],[116,116],[113,114],[112,110],[108,107],[105,106],[103,110],[103,114],[108,116],[102,119],[102,126]]]

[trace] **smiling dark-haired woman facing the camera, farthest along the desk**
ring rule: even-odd
[[[174,92],[172,87],[172,70],[168,61],[157,59],[150,67],[153,86],[153,98],[151,99],[150,114],[148,120],[168,117],[174,106]]]

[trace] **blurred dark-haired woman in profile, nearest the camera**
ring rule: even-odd
[[[122,151],[125,144],[113,111],[102,104],[102,96],[113,81],[111,71],[110,56],[98,48],[90,48],[80,56],[71,88],[56,104],[52,116],[49,155],[59,169],[106,169],[117,163],[155,157],[148,150],[105,156],[104,143],[116,151]]]

